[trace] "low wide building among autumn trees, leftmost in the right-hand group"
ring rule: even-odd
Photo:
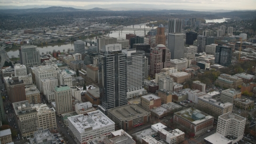
[[[221,74],[215,81],[215,84],[228,89],[237,89],[239,85],[243,84],[243,79],[237,76]]]

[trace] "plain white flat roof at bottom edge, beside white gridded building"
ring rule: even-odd
[[[211,142],[212,144],[227,144],[233,140],[229,140],[218,133],[214,133],[209,137],[204,138],[205,140]]]

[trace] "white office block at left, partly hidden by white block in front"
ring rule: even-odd
[[[46,65],[46,66],[39,66],[35,67],[35,80],[36,80],[36,87],[40,92],[43,92],[41,79],[50,78],[50,77],[57,77],[57,65]]]

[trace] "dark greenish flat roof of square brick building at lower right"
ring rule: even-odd
[[[193,119],[192,114],[194,114],[194,113],[196,113],[197,115],[205,115],[205,118],[202,118],[202,119],[199,119],[199,120]],[[198,123],[201,123],[203,121],[206,121],[207,119],[213,118],[212,116],[207,115],[207,114],[203,113],[202,111],[200,111],[198,109],[195,109],[195,108],[191,108],[191,107],[187,108],[187,109],[177,111],[174,114],[186,119],[187,121],[189,121],[190,123],[193,123],[195,125],[198,124]]]

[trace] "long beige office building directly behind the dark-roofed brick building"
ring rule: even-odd
[[[210,94],[198,97],[198,106],[210,110],[209,113],[213,112],[215,116],[220,116],[233,110],[233,103],[225,102],[222,103],[217,101],[218,99]]]

